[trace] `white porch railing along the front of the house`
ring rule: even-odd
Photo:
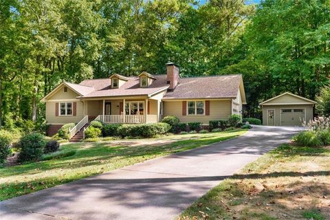
[[[98,115],[95,120],[113,124],[141,124],[146,122],[144,117],[145,115]],[[157,115],[148,115],[148,122],[157,122]]]

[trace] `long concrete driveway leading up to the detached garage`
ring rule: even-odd
[[[0,203],[5,219],[173,219],[296,128],[254,126],[245,135]]]

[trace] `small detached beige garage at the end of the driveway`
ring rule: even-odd
[[[313,119],[315,101],[286,92],[260,105],[263,109],[263,125],[301,126]]]

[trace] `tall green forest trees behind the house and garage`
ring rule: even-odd
[[[329,81],[330,1],[0,0],[0,125],[44,120],[62,80],[242,74],[248,105]]]

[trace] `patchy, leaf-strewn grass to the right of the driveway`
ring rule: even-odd
[[[330,148],[283,144],[225,179],[178,219],[330,219]]]

